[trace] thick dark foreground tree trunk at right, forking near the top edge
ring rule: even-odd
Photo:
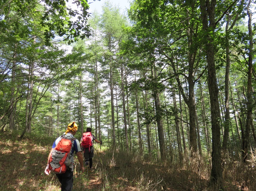
[[[211,6],[210,6],[211,5]],[[221,166],[221,143],[220,143],[220,106],[218,99],[218,87],[214,61],[213,35],[215,26],[215,6],[216,1],[200,0],[200,10],[203,29],[207,32],[205,42],[206,59],[208,64],[208,89],[211,104],[212,121],[212,170],[210,183],[214,188],[222,189],[222,166]],[[209,19],[209,20],[208,20]],[[209,24],[209,26],[208,26]]]

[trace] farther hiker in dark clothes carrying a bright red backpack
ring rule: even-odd
[[[89,165],[89,171],[91,171],[92,169],[92,158],[94,154],[93,140],[95,140],[95,142],[97,143],[102,144],[102,141],[98,141],[91,132],[92,129],[90,127],[87,127],[86,132],[83,133],[80,143],[80,146],[82,147],[82,150],[84,152],[85,165],[87,168]]]

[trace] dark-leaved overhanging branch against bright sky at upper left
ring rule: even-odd
[[[65,40],[68,40],[68,44],[76,41],[78,37],[82,39],[89,37],[89,26],[87,25],[89,5],[87,1],[75,0],[72,4],[75,4],[80,10],[68,8],[66,0],[45,0],[45,13],[41,25],[47,26],[44,32],[46,45],[49,45],[50,39],[55,37],[55,32],[61,37],[64,36]]]

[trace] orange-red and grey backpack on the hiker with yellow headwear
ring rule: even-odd
[[[56,145],[49,159],[48,169],[57,174],[65,173],[67,166],[71,163],[70,150],[72,141],[76,138],[67,139],[64,135],[61,136],[59,143]]]

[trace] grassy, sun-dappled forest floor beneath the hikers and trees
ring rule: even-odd
[[[26,135],[18,140],[17,136],[0,133],[0,190],[1,191],[60,191],[60,183],[51,173],[44,174],[47,157],[54,141]],[[95,145],[92,172],[79,172],[76,160],[73,191],[210,191],[210,166],[190,161],[190,166],[180,168],[173,163],[158,163],[146,160],[137,152],[113,152]],[[233,164],[233,163],[232,163]],[[241,166],[233,166],[241,169]],[[246,167],[243,167],[246,168]],[[247,175],[255,179],[255,170]],[[239,170],[237,170],[239,171]],[[224,171],[226,191],[255,191],[253,181],[248,183],[234,175],[234,171]],[[233,175],[232,175],[233,174]],[[242,174],[244,176],[245,174]],[[234,177],[235,176],[235,177]],[[251,189],[253,188],[253,189]]]

